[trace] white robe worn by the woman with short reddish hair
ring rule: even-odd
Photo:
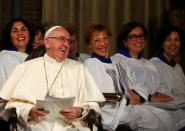
[[[102,92],[116,92],[113,79],[107,73],[107,70],[117,72],[115,62],[103,63],[97,58],[89,58],[84,63]],[[125,104],[123,99],[120,103],[106,103],[101,108],[105,129],[113,131],[118,124],[126,124],[137,131],[173,131],[172,120],[165,111],[147,105]]]

